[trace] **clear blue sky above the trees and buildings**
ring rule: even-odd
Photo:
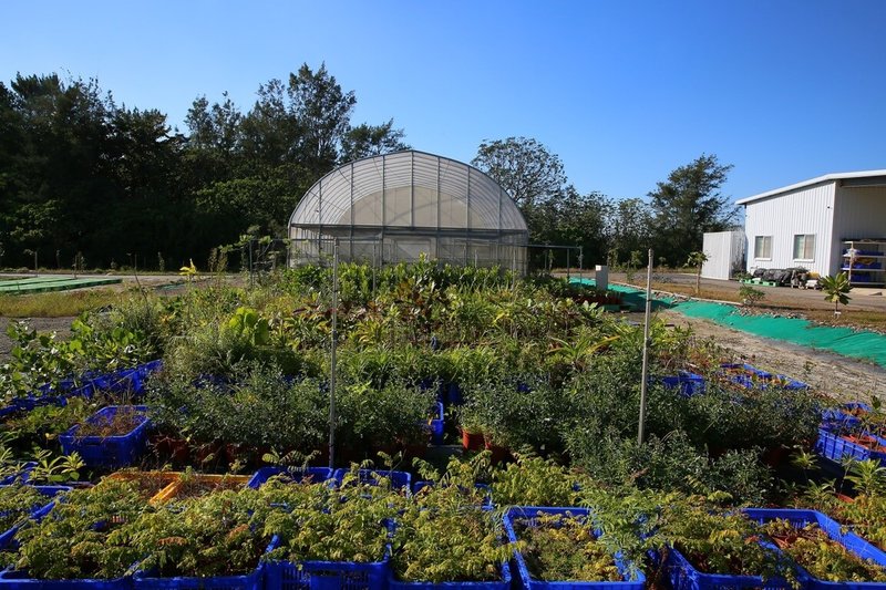
[[[4,2],[0,80],[97,77],[182,125],[193,100],[326,62],[353,122],[468,162],[535,137],[581,193],[643,196],[702,153],[742,198],[886,168],[883,0]]]

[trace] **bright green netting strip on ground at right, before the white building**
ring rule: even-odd
[[[574,282],[594,284],[591,279],[574,279]],[[610,284],[609,289],[625,293],[626,302],[642,309],[646,299],[643,291],[619,284]],[[744,315],[734,306],[707,301],[678,301],[659,298],[655,301],[653,307],[659,307],[657,303],[690,318],[710,320],[742,332],[783,340],[801,346],[827,350],[844,356],[867,359],[886,368],[886,335],[876,332],[817,325],[808,320],[794,318]]]

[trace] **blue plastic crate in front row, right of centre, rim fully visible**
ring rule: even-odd
[[[523,521],[528,526],[535,522],[535,516],[542,513],[543,515],[555,515],[564,518],[587,519],[590,517],[590,510],[587,508],[550,508],[544,506],[514,506],[508,508],[505,513],[504,525],[505,531],[511,542],[517,542],[517,534],[514,528],[516,521]],[[616,567],[624,578],[620,582],[609,581],[544,581],[537,580],[532,577],[526,560],[523,553],[514,551],[514,557],[517,562],[518,581],[522,588],[526,590],[606,590],[622,589],[622,590],[642,590],[646,587],[646,577],[643,573],[636,569],[636,577],[630,578],[630,566],[627,563],[619,553],[614,557]]]

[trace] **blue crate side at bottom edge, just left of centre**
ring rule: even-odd
[[[388,556],[381,561],[265,562],[265,590],[385,590]]]

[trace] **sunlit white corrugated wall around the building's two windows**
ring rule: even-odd
[[[832,248],[835,192],[836,185],[832,180],[745,205],[748,271],[802,266],[824,275],[833,273],[839,261],[833,256]],[[799,234],[815,235],[812,261],[794,260],[794,236]],[[756,236],[772,236],[770,259],[756,258]]]

